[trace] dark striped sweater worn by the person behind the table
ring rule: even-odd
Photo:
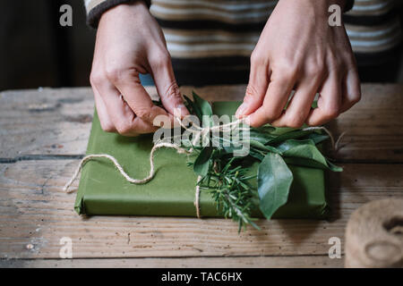
[[[131,0],[84,0],[88,23]],[[240,83],[248,79],[249,57],[278,1],[151,0],[180,84]],[[394,0],[347,1],[345,24],[359,66],[387,63],[401,43]],[[351,8],[351,9],[350,9]]]

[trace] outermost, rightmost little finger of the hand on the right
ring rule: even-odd
[[[341,102],[340,113],[344,113],[355,105],[361,99],[361,85],[356,68],[347,72],[346,79],[343,84],[343,97]]]

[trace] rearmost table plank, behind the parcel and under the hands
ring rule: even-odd
[[[245,87],[196,88],[209,100],[236,100]],[[155,88],[149,88],[156,95]],[[192,88],[182,88],[190,94]],[[82,155],[90,131],[90,88],[4,91],[0,94],[0,158]],[[343,131],[340,161],[403,162],[403,85],[364,84],[363,99],[330,123]]]

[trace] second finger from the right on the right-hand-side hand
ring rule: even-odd
[[[311,109],[306,123],[311,126],[322,125],[339,116],[341,107],[341,80],[333,72],[325,80],[319,93],[318,107]]]

